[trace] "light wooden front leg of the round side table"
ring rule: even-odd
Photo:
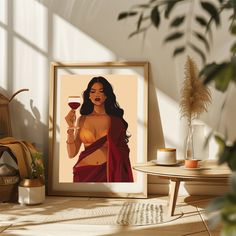
[[[179,192],[179,179],[171,179],[170,180],[170,191],[169,191],[169,208],[168,208],[168,215],[173,216],[175,212],[176,201]]]

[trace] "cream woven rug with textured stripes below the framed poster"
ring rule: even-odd
[[[0,204],[1,222],[24,226],[45,223],[150,225],[181,217],[167,216],[167,206],[145,200],[55,198],[41,205]]]

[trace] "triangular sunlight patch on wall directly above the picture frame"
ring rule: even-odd
[[[53,57],[62,61],[111,61],[115,54],[58,15],[53,18]]]

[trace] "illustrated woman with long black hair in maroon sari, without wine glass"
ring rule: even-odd
[[[104,77],[94,77],[83,93],[81,116],[75,110],[65,117],[67,152],[75,157],[84,151],[73,167],[74,182],[133,182],[129,160],[128,123],[116,101],[111,84]],[[75,126],[78,129],[73,129]]]

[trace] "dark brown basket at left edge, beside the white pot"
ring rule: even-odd
[[[16,202],[19,176],[0,176],[0,202]]]

